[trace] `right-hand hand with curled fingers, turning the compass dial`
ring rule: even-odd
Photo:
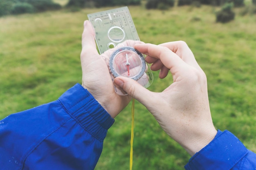
[[[170,71],[173,83],[161,93],[151,92],[127,77],[117,77],[115,83],[146,106],[163,130],[194,155],[217,133],[211,119],[206,75],[185,42],[136,44],[135,49],[148,55],[146,61],[153,63],[153,71],[161,70],[160,78]]]

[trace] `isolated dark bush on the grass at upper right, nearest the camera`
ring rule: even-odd
[[[233,6],[233,3],[224,4],[221,11],[216,13],[216,22],[226,23],[234,20],[235,13],[232,11]]]

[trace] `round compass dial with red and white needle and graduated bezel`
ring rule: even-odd
[[[139,51],[124,46],[110,55],[109,69],[114,77],[124,76],[138,80],[146,71],[146,62]]]

